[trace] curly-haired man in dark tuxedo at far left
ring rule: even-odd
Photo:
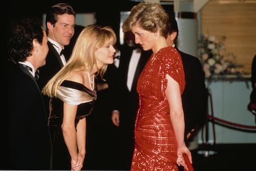
[[[45,65],[46,31],[39,21],[17,20],[9,38],[7,102],[9,169],[51,170],[51,136],[36,70]],[[2,140],[5,141],[5,140]]]

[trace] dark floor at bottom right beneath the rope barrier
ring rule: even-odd
[[[200,145],[192,151],[195,171],[256,170],[255,144]]]

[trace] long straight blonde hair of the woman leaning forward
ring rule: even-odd
[[[88,25],[83,28],[75,42],[74,49],[67,64],[48,81],[42,90],[43,94],[50,98],[56,96],[58,87],[70,72],[74,70],[92,70],[93,66],[96,65],[95,51],[98,48],[109,44],[114,45],[115,43],[116,34],[109,26]],[[108,64],[105,64],[101,69],[97,69],[96,75],[100,75],[100,78],[103,79],[107,67]]]

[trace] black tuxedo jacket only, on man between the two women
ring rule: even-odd
[[[125,131],[129,131],[133,134],[135,117],[137,114],[137,109],[139,108],[139,94],[137,93],[136,86],[137,81],[142,72],[145,64],[151,56],[151,51],[143,51],[141,50],[140,59],[135,69],[134,79],[132,81],[132,88],[129,91],[127,87],[127,75],[129,70],[129,62],[132,57],[132,51],[134,49],[129,46],[121,46],[120,52],[120,61],[118,67],[118,95],[119,102],[117,102],[119,106],[120,114],[120,127],[124,128]]]

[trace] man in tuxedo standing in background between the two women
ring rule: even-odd
[[[137,80],[151,51],[143,49],[134,42],[132,32],[125,33],[125,43],[119,47],[116,67],[116,101],[112,112],[112,121],[119,127],[119,169],[130,170],[132,154],[134,151],[134,125],[137,109],[139,108],[139,94],[136,86]],[[113,93],[114,94],[114,93]],[[119,122],[120,121],[120,122]]]

